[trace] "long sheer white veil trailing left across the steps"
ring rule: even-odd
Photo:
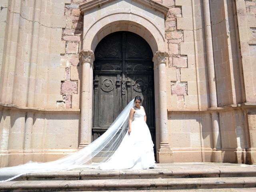
[[[94,167],[95,163],[101,164],[108,161],[128,130],[129,112],[133,105],[134,99],[118,115],[108,130],[88,146],[55,161],[28,162],[18,166],[0,168],[0,182],[10,181],[27,173]]]

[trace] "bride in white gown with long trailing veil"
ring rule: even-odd
[[[0,182],[23,174],[74,168],[148,169],[155,166],[153,142],[142,98],[136,96],[98,139],[87,147],[51,162],[28,162],[0,168]]]

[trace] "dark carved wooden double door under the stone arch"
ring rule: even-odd
[[[154,65],[148,43],[132,32],[114,32],[100,41],[94,54],[92,140],[140,95],[154,141]]]

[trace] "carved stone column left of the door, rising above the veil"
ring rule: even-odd
[[[82,50],[80,53],[82,60],[82,95],[81,95],[81,124],[80,124],[80,144],[79,148],[87,146],[92,142],[92,69],[94,53],[90,50]]]

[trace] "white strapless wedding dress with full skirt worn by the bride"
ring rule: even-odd
[[[154,144],[144,121],[145,111],[142,107],[134,109],[130,135],[126,132],[116,152],[98,169],[148,169],[155,166]]]

